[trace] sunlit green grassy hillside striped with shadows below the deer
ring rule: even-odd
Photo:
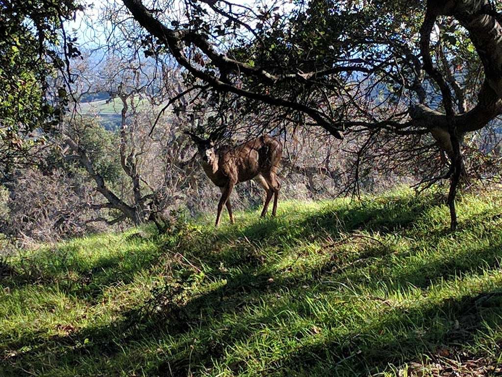
[[[25,252],[0,280],[0,375],[496,375],[502,197],[458,207],[455,234],[404,191]]]

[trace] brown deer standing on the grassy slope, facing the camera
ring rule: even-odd
[[[185,133],[192,138],[197,146],[197,155],[201,160],[204,172],[221,191],[214,224],[216,227],[220,223],[223,206],[226,206],[230,223],[234,224],[230,194],[237,183],[252,179],[257,181],[266,192],[261,217],[267,215],[272,196],[274,196],[272,216],[276,216],[277,200],[281,188],[277,169],[283,151],[279,140],[265,134],[238,146],[224,145],[215,149],[211,137],[203,139],[191,132]]]

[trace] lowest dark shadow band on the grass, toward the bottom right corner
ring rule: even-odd
[[[486,322],[501,326],[502,318],[498,315],[502,309],[501,288],[476,297],[445,300],[425,310],[393,309],[381,323],[373,325],[377,329],[379,325],[386,328],[380,337],[375,337],[378,332],[370,328],[347,334],[341,342],[327,340],[305,345],[273,362],[273,367],[277,375],[282,372],[288,375],[291,370],[315,376],[340,375],[338,370],[343,370],[345,375],[366,375],[382,371],[390,363],[420,362],[424,354],[438,354],[473,341]],[[397,335],[389,333],[389,328]]]

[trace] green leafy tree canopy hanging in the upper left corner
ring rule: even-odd
[[[42,131],[64,114],[69,62],[79,50],[63,26],[82,9],[72,0],[0,4],[0,161],[5,166],[26,156]],[[58,82],[58,71],[66,83]]]

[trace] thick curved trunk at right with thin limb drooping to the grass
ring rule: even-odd
[[[478,120],[474,124],[460,123],[462,115],[455,116],[453,109],[453,96],[445,78],[440,71],[433,66],[430,55],[430,35],[440,15],[455,17],[468,31],[472,43],[476,47],[485,69],[485,81],[478,96],[478,104],[469,113],[477,113]],[[446,130],[449,140],[443,135],[442,142],[448,145],[446,151],[450,157],[452,175],[450,190],[448,193],[448,206],[450,209],[451,229],[457,227],[455,210],[455,196],[460,175],[463,171],[463,157],[460,150],[460,134],[467,127],[482,128],[489,120],[500,114],[502,97],[502,25],[500,18],[488,0],[461,0],[461,1],[437,1],[428,0],[424,22],[420,29],[420,49],[424,60],[424,70],[434,79],[439,86],[445,110]],[[465,121],[465,120],[464,120]],[[442,127],[444,130],[444,127]],[[433,133],[434,135],[434,133]],[[434,135],[435,136],[435,135]],[[437,139],[438,137],[435,136]]]

